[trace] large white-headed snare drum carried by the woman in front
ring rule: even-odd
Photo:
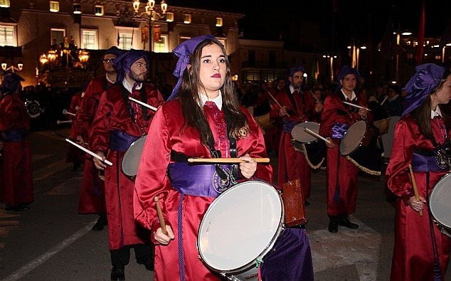
[[[264,181],[245,181],[221,193],[198,231],[200,258],[228,280],[258,280],[258,266],[282,231],[279,192]]]

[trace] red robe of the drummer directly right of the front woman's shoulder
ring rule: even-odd
[[[290,96],[295,98],[296,104],[293,104]],[[283,107],[287,107],[287,115],[282,116],[284,122],[287,120],[290,122],[304,122],[310,121],[311,116],[314,113],[315,102],[312,95],[308,92],[297,94],[290,94],[287,91],[279,92],[277,94],[277,102]],[[271,117],[276,118],[279,116],[278,105],[274,105],[271,110]],[[309,198],[310,196],[310,179],[312,177],[312,170],[302,152],[295,150],[292,143],[292,135],[290,132],[285,132],[282,130],[280,136],[280,146],[279,146],[279,168],[277,174],[277,185],[282,188],[282,184],[287,181],[292,181],[294,179],[300,179],[301,186],[304,191],[304,198]]]

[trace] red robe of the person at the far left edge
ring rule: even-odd
[[[0,202],[6,206],[33,202],[33,169],[30,144],[26,138],[7,139],[8,132],[28,132],[30,117],[18,94],[0,100]]]

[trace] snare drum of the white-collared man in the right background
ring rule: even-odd
[[[383,147],[376,127],[367,127],[364,120],[357,121],[344,133],[340,153],[361,171],[381,175]]]

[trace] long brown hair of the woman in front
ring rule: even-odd
[[[205,46],[216,44],[221,47],[224,55],[226,55],[226,49],[218,39],[206,39],[201,43],[198,43],[194,49],[191,57],[189,58],[189,64],[191,68],[186,68],[184,71],[181,86],[178,92],[181,111],[185,117],[184,128],[191,127],[198,129],[201,137],[201,143],[208,142],[213,138],[211,135],[211,129],[208,125],[208,121],[203,113],[201,93],[206,92],[199,76],[201,68],[201,55],[202,49]],[[221,87],[221,94],[223,99],[223,112],[226,115],[226,119],[231,124],[230,137],[238,138],[238,130],[242,127],[248,128],[248,122],[240,110],[240,102],[238,100],[238,94],[235,89],[235,85],[232,82],[232,75],[230,73],[230,62],[226,58],[226,80]]]

